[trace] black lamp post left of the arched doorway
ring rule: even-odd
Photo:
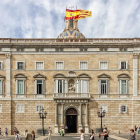
[[[42,119],[42,136],[45,136],[45,132],[44,132],[44,119],[46,119],[47,116],[47,112],[44,112],[44,108],[42,108],[39,112],[39,117],[40,119]]]

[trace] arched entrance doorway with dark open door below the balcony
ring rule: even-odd
[[[69,108],[66,111],[66,125],[68,126],[67,133],[77,133],[78,113],[75,108]]]

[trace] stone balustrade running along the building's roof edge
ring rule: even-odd
[[[52,43],[133,43],[133,42],[140,42],[140,38],[86,38],[86,39],[20,39],[20,38],[0,38],[1,43],[45,43],[45,44],[52,44]]]

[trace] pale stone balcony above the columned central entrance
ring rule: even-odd
[[[90,99],[90,93],[54,93],[53,99]]]

